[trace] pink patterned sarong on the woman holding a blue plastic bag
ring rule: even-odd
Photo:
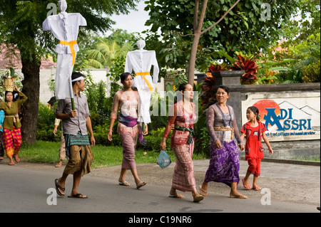
[[[194,143],[175,147],[176,157],[172,187],[179,191],[196,191],[193,164]]]

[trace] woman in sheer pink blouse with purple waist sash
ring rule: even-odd
[[[121,109],[118,118],[117,132],[121,136],[123,142],[123,164],[121,167],[121,176],[119,176],[118,183],[122,186],[130,186],[125,180],[127,169],[131,169],[133,177],[136,182],[136,188],[139,189],[146,185],[146,182],[139,179],[135,162],[135,149],[138,136],[148,134],[148,127],[146,125],[145,131],[141,132],[138,125],[138,92],[132,90],[133,78],[131,73],[123,73],[121,75],[121,83],[123,83],[123,90],[118,91],[113,97],[113,109],[111,112],[111,125],[109,127],[108,139],[111,141],[113,133],[113,124],[117,119],[118,107]],[[141,140],[141,139],[140,139]]]

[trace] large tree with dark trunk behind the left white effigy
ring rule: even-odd
[[[128,14],[139,0],[70,0],[68,13],[80,13],[87,21],[86,31],[105,32],[115,23],[109,16]],[[57,1],[58,3],[58,1]],[[29,97],[23,108],[21,135],[29,144],[36,142],[36,122],[39,106],[39,68],[41,58],[54,53],[58,41],[42,23],[49,14],[58,13],[51,0],[0,0],[0,42],[17,48],[21,55],[24,94]],[[84,32],[80,31],[79,36]]]

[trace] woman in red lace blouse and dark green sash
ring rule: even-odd
[[[170,189],[170,197],[183,199],[184,196],[178,194],[179,191],[191,191],[193,201],[199,202],[203,200],[203,196],[196,191],[193,165],[194,151],[194,126],[196,120],[195,105],[190,102],[193,99],[193,87],[190,84],[182,84],[179,86],[183,95],[183,99],[176,102],[168,113],[168,124],[166,125],[161,149],[165,150],[166,138],[171,130],[171,125],[175,125],[172,137],[170,139],[170,148],[176,157],[176,164],[173,174],[172,187]]]

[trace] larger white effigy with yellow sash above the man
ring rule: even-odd
[[[51,31],[59,40],[55,51],[58,53],[56,66],[56,99],[73,98],[71,88],[71,73],[79,51],[77,37],[79,26],[87,26],[86,19],[79,13],[67,14],[66,0],[58,1],[61,11],[58,15],[51,15],[42,24],[44,31]]]

